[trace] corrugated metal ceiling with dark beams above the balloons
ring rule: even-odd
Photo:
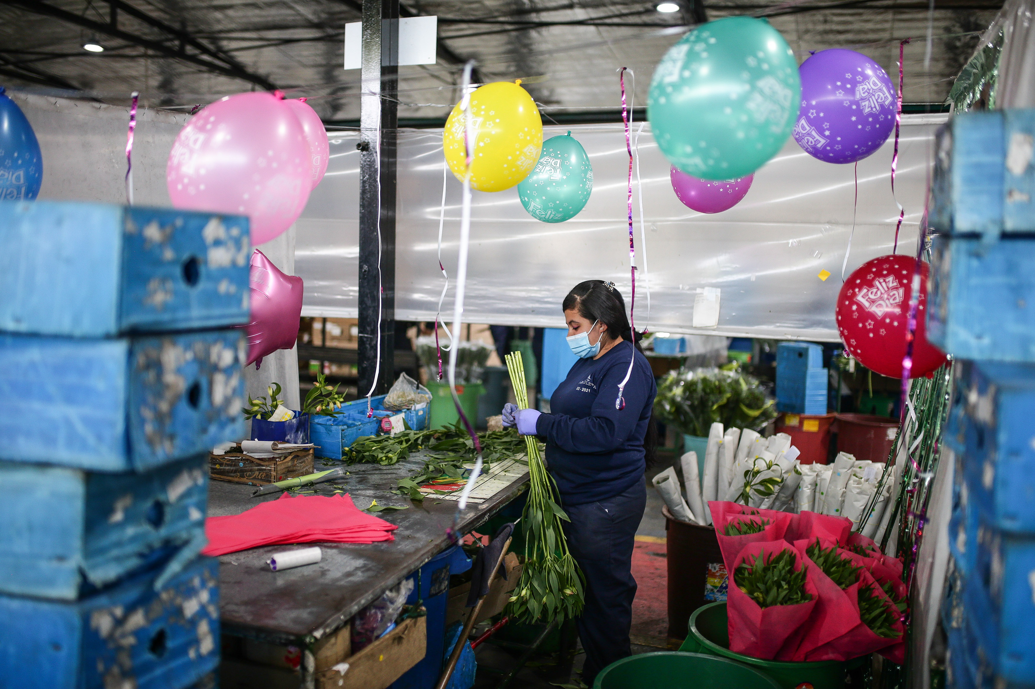
[[[523,77],[550,115],[614,112],[616,68],[643,103],[654,65],[702,18],[765,15],[804,60],[853,48],[893,73],[906,49],[906,102],[941,102],[1001,0],[706,0],[660,13],[642,0],[404,0],[439,17],[436,65],[400,68],[400,118],[442,119],[463,62],[482,80]],[[359,115],[359,72],[343,69],[344,26],[359,0],[0,0],[0,84],[150,107],[189,108],[279,88],[325,120]],[[928,27],[928,18],[931,20]],[[927,57],[928,28],[930,41]],[[103,53],[83,50],[95,38]],[[893,74],[895,77],[896,74]]]

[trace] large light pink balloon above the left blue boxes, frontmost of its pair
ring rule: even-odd
[[[309,147],[292,108],[239,93],[203,108],[173,144],[166,185],[176,208],[246,215],[252,245],[291,226],[313,188]]]

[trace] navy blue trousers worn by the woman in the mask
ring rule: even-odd
[[[646,504],[647,489],[637,481],[614,498],[563,505],[571,519],[564,524],[568,549],[586,577],[586,606],[578,625],[586,651],[583,681],[590,686],[601,669],[632,655],[632,547]]]

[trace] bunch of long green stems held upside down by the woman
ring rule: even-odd
[[[521,352],[507,354],[507,369],[518,406],[528,408],[528,387]],[[546,471],[533,436],[525,436],[528,448],[528,502],[522,514],[525,530],[525,565],[521,581],[510,596],[507,615],[532,623],[575,618],[584,600],[583,573],[568,552],[561,520],[570,522],[554,499],[557,484]]]

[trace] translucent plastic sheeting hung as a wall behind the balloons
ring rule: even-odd
[[[906,209],[898,251],[913,254],[924,210],[935,129],[946,116],[904,116],[895,186]],[[626,173],[620,124],[545,127],[544,138],[570,129],[593,163],[586,208],[564,223],[530,217],[516,189],[474,192],[466,322],[558,327],[561,300],[576,283],[612,280],[630,296]],[[640,123],[633,124],[633,135]],[[305,280],[303,315],[356,317],[359,154],[354,133],[331,134],[327,176],[297,223],[296,269]],[[645,247],[633,188],[637,255],[635,323],[651,331],[837,341],[834,303],[841,263],[855,233],[846,277],[894,244],[898,210],[891,195],[894,137],[854,165],[832,165],[794,140],[755,176],[745,198],[717,215],[690,211],[676,198],[670,166],[644,125],[640,136]],[[395,317],[432,320],[442,274],[437,258],[442,199],[442,131],[403,130],[398,142]],[[634,180],[633,180],[634,182]],[[462,185],[446,175],[443,263],[455,275]],[[649,269],[650,313],[647,308]],[[823,271],[829,277],[822,280]],[[718,289],[715,327],[694,328],[705,289]],[[714,292],[710,292],[714,293]],[[450,285],[443,313],[452,310]],[[699,300],[706,302],[707,300]]]

